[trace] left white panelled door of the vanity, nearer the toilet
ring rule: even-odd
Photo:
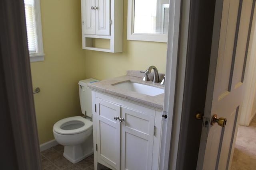
[[[99,98],[95,102],[98,162],[120,170],[120,122],[114,117],[120,117],[121,106]]]

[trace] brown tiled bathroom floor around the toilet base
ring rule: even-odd
[[[41,152],[43,170],[94,170],[93,155],[72,164],[63,156],[64,147],[56,145]],[[110,170],[104,168],[104,170]]]

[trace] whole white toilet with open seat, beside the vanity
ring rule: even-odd
[[[79,162],[93,154],[92,136],[92,91],[88,83],[98,80],[89,78],[78,82],[82,116],[67,117],[53,126],[55,140],[64,146],[63,156],[72,163]]]

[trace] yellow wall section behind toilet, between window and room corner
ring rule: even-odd
[[[86,78],[80,0],[41,0],[45,61],[31,63],[40,144],[54,139],[52,127],[79,115],[78,80]]]

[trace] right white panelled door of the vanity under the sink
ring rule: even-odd
[[[126,107],[121,115],[121,169],[151,170],[155,117]]]

